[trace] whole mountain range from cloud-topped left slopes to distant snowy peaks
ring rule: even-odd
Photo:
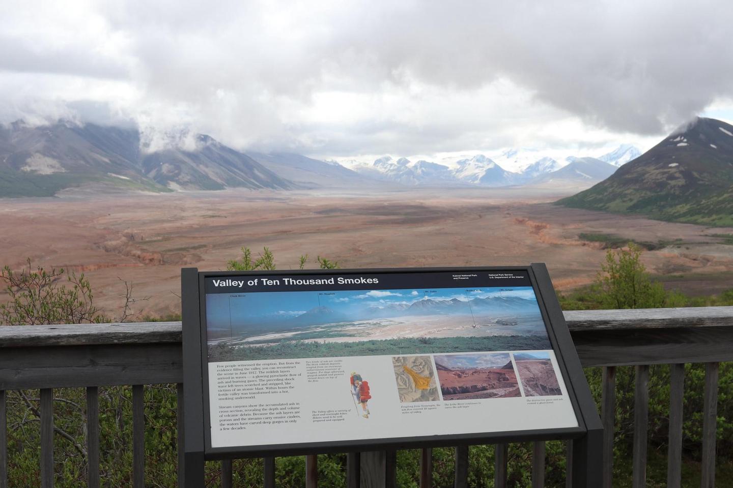
[[[441,162],[384,156],[369,163],[339,164],[287,152],[244,154],[208,135],[189,135],[183,147],[155,151],[146,149],[143,139],[131,127],[65,122],[45,127],[21,122],[0,126],[0,198],[51,196],[62,189],[89,186],[151,192],[232,187],[588,186],[638,154],[636,148],[625,145],[599,159],[586,157],[578,162],[578,158],[558,161],[532,149],[514,149],[498,155],[505,165],[523,165],[512,172],[482,154]]]

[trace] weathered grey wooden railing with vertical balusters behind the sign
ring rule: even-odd
[[[733,361],[733,307],[565,312],[583,366],[603,367],[601,418],[605,427],[603,487],[611,487],[616,367],[636,368],[633,487],[644,487],[647,465],[649,365],[671,364],[668,487],[680,487],[684,364],[705,364],[702,427],[703,488],[715,486],[718,364]],[[40,479],[54,485],[54,388],[86,388],[88,486],[99,487],[98,386],[132,385],[133,488],[144,486],[144,385],[177,383],[178,442],[183,446],[181,324],[106,323],[0,327],[0,488],[8,488],[7,391],[40,388]],[[455,486],[468,486],[468,446],[455,448]],[[178,476],[183,486],[182,449]],[[545,443],[535,442],[532,486],[544,486]],[[394,487],[395,451],[350,453],[349,487]],[[495,486],[507,483],[507,445],[496,446]],[[570,466],[572,459],[568,459]],[[266,458],[264,486],[275,486]],[[232,486],[232,463],[221,465],[221,486]],[[568,472],[570,470],[568,469]],[[420,486],[432,485],[432,451],[422,450]],[[306,457],[306,487],[317,486],[317,457]]]

